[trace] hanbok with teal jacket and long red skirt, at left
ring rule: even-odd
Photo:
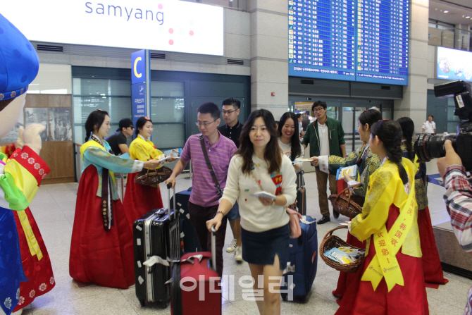
[[[92,135],[80,147],[83,169],[77,191],[69,274],[82,283],[126,289],[135,283],[132,231],[113,173],[141,171],[142,161],[110,154]]]

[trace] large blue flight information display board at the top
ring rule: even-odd
[[[408,85],[409,0],[291,0],[289,75]]]

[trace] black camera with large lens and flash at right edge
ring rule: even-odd
[[[454,97],[456,109],[454,115],[461,120],[467,120],[457,126],[457,135],[433,136],[421,134],[416,137],[414,150],[419,161],[428,162],[431,159],[446,156],[444,144],[451,140],[452,147],[462,160],[466,171],[472,171],[472,92],[468,82],[455,80],[435,85],[435,97],[445,99]]]

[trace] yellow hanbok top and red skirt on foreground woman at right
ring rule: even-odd
[[[351,233],[366,241],[364,261],[349,274],[337,315],[429,314],[423,278],[415,199],[416,168],[402,159],[409,181],[385,159],[371,175],[362,214],[351,221]]]

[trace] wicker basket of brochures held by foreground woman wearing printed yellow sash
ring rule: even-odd
[[[339,248],[342,246],[347,246],[347,247],[352,247],[356,249],[362,249],[359,247],[354,247],[352,245],[349,245],[346,241],[342,240],[341,237],[339,236],[332,235],[335,230],[339,230],[340,228],[347,228],[347,226],[338,226],[337,228],[333,228],[333,230],[330,230],[328,233],[326,233],[325,237],[321,241],[319,254],[320,254],[321,259],[323,259],[323,261],[325,262],[325,264],[327,264],[331,268],[335,268],[337,271],[354,273],[357,271],[357,269],[359,269],[359,266],[361,266],[362,261],[364,261],[364,255],[362,255],[361,258],[357,259],[351,264],[339,264],[325,256],[325,252],[334,247]]]

